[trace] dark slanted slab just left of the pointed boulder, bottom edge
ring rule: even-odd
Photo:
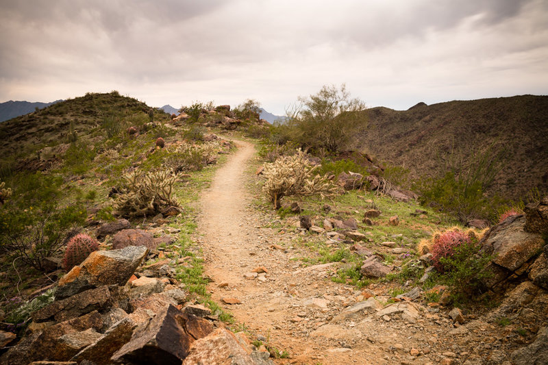
[[[111,364],[110,357],[131,338],[136,324],[130,318],[123,318],[88,347],[74,355],[71,361],[87,360],[97,365]]]

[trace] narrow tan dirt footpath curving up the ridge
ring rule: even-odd
[[[299,264],[289,260],[291,249],[273,247],[286,236],[261,228],[267,222],[250,206],[246,189],[252,177],[245,175],[245,169],[255,150],[249,142],[236,144],[238,151],[219,169],[201,198],[199,233],[203,234],[206,274],[214,280],[209,287],[212,299],[249,332],[266,338],[279,351],[288,351],[290,359],[277,360],[280,364],[388,363],[374,360],[374,347],[349,349],[356,338],[347,338],[348,333],[310,336],[328,323],[332,310],[348,304],[353,289],[325,279],[329,264],[299,270]],[[268,270],[264,277],[244,277],[259,266]],[[241,303],[225,305],[223,298]],[[362,338],[356,331],[351,335]]]

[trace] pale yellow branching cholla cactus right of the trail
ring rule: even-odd
[[[262,175],[266,182],[262,191],[269,197],[276,209],[281,207],[280,199],[289,195],[320,194],[321,197],[338,194],[340,188],[327,179],[316,175],[318,166],[310,166],[303,151],[296,155],[278,158],[272,164],[266,164]]]

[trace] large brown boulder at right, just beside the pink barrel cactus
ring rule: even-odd
[[[480,244],[495,256],[494,264],[515,271],[543,248],[543,236],[524,231],[524,226],[524,216],[513,216],[486,232]]]

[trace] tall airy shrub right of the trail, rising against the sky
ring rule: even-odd
[[[289,111],[286,126],[290,138],[302,147],[329,152],[349,149],[359,131],[367,125],[360,111],[365,104],[351,99],[345,85],[323,86],[310,97],[299,97],[300,107]]]

